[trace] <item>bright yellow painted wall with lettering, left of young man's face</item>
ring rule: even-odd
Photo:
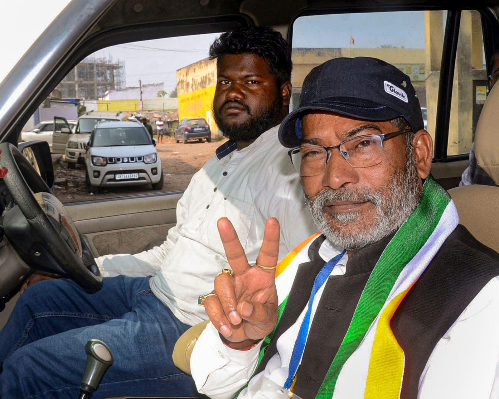
[[[215,97],[215,85],[199,89],[190,93],[178,95],[179,121],[182,118],[202,117],[207,120],[212,131],[212,136],[218,134],[218,127],[212,116],[212,104]]]

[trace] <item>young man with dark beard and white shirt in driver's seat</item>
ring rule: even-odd
[[[178,337],[206,319],[199,293],[229,267],[217,220],[233,221],[252,261],[268,217],[283,226],[279,258],[314,231],[277,137],[291,89],[288,44],[272,29],[244,28],[222,34],[210,55],[218,63],[214,115],[230,140],[193,176],[161,246],[97,259],[100,291],[89,295],[66,279],[26,289],[0,332],[2,398],[76,398],[91,338],[114,355],[92,398],[195,396],[171,355]]]

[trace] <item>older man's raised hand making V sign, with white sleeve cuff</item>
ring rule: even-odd
[[[204,303],[211,323],[196,342],[191,372],[199,392],[229,399],[246,385],[256,368],[262,338],[277,319],[277,291],[275,271],[250,267],[229,220],[221,218],[218,227],[234,275],[221,273],[215,278],[216,295]],[[258,263],[275,266],[278,252],[279,223],[270,218]]]

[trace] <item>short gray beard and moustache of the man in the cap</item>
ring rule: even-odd
[[[416,208],[421,198],[419,177],[414,156],[410,154],[402,171],[388,178],[386,185],[377,190],[327,189],[306,204],[315,226],[333,244],[347,250],[356,250],[379,241],[397,230]],[[325,204],[330,201],[369,201],[375,206],[375,217],[366,222],[362,212],[329,214]],[[334,227],[331,221],[335,222]]]

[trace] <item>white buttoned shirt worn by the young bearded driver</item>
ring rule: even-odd
[[[153,293],[183,323],[206,320],[198,296],[213,290],[213,280],[229,267],[217,220],[234,224],[250,264],[256,260],[266,220],[280,223],[279,260],[316,231],[288,149],[279,144],[278,126],[238,151],[235,143],[217,150],[197,172],[177,203],[177,224],[165,242],[136,255],[97,258],[103,276],[147,276]]]

